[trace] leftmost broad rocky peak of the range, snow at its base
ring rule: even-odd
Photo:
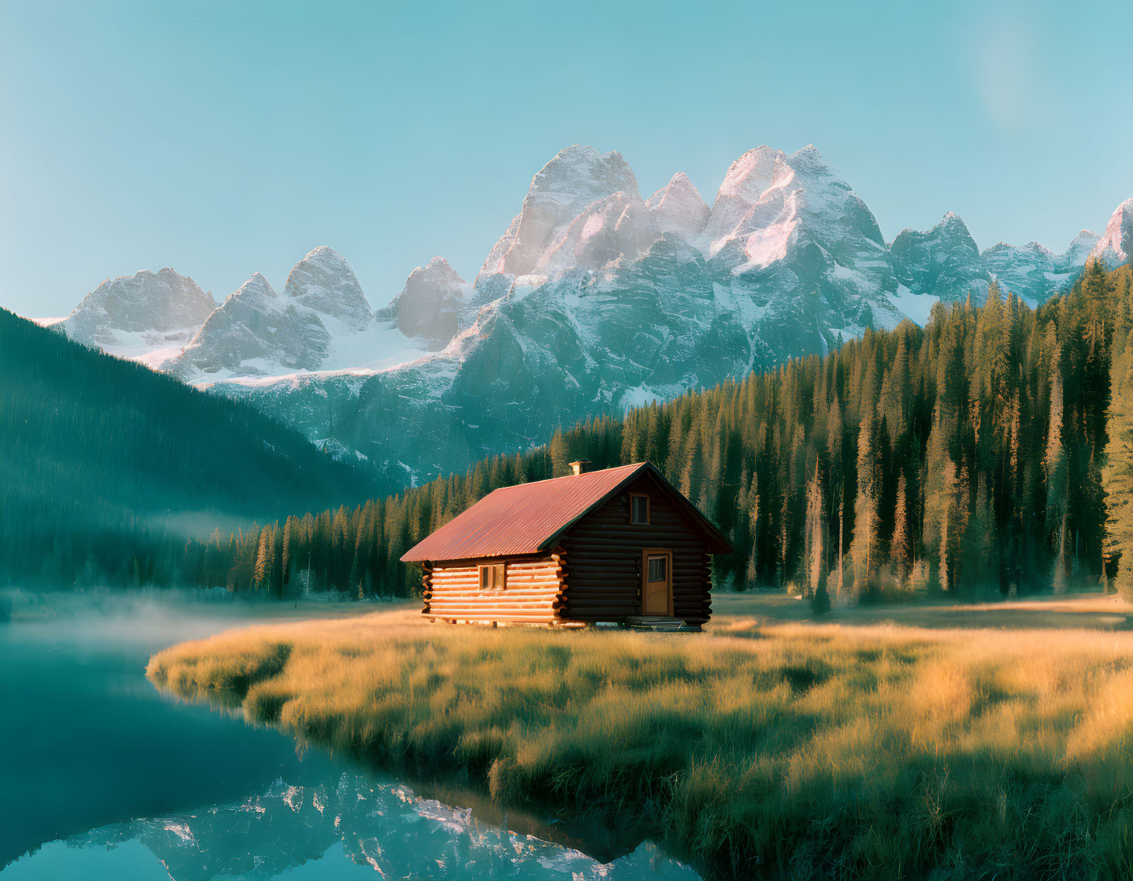
[[[216,308],[212,292],[170,268],[107,279],[62,322],[67,335],[155,367]]]

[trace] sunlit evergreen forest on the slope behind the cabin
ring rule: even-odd
[[[235,589],[404,596],[418,579],[398,558],[421,536],[582,457],[657,464],[731,538],[718,584],[974,596],[1119,570],[1133,597],[1118,565],[1133,559],[1130,277],[1091,265],[1037,311],[993,286],[978,308],[937,305],[925,328],[867,332],[361,507],[189,542],[180,565]]]

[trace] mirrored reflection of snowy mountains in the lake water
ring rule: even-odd
[[[242,802],[113,823],[67,844],[114,847],[130,840],[161,859],[173,881],[273,878],[316,859],[326,863],[318,872],[325,879],[353,869],[343,859],[385,879],[698,878],[648,841],[599,863],[571,847],[478,820],[471,809],[450,807],[401,784],[351,771],[337,784],[276,780]]]

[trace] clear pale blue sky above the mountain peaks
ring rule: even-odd
[[[471,280],[574,143],[709,203],[813,143],[887,239],[1062,250],[1133,196],[1133,3],[0,0],[0,306],[280,289],[318,245],[381,306],[435,254]]]

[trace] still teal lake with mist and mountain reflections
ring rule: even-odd
[[[472,796],[427,797],[145,678],[157,649],[279,614],[17,595],[0,623],[0,879],[698,878],[649,841],[614,857]]]

